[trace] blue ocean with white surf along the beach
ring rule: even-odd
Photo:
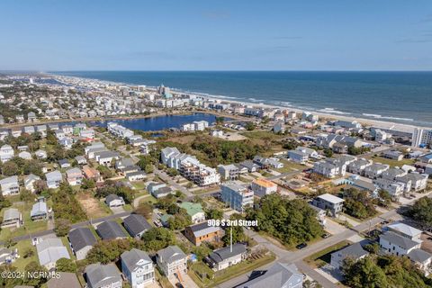
[[[51,72],[404,124],[432,125],[432,72]]]

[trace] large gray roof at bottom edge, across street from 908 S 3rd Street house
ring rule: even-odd
[[[294,278],[293,278],[294,276]],[[295,277],[297,276],[297,277]],[[297,279],[295,279],[297,278]],[[238,287],[242,288],[281,288],[286,284],[295,280],[295,283],[290,283],[286,287],[293,287],[294,285],[301,284],[303,275],[297,271],[297,267],[292,265],[286,265],[282,263],[275,263],[273,266],[268,268],[264,275],[260,275],[257,278],[248,281],[245,284],[241,284]]]

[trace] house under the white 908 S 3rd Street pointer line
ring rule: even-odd
[[[246,245],[236,243],[232,247],[228,246],[214,250],[205,260],[214,271],[220,271],[240,263],[246,258],[246,255]]]

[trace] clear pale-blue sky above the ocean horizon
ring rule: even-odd
[[[432,70],[431,0],[2,0],[0,70]]]

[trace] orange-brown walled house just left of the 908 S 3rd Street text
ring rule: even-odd
[[[223,229],[209,226],[207,222],[201,222],[188,226],[184,229],[184,236],[195,246],[202,242],[219,242],[223,236]]]

